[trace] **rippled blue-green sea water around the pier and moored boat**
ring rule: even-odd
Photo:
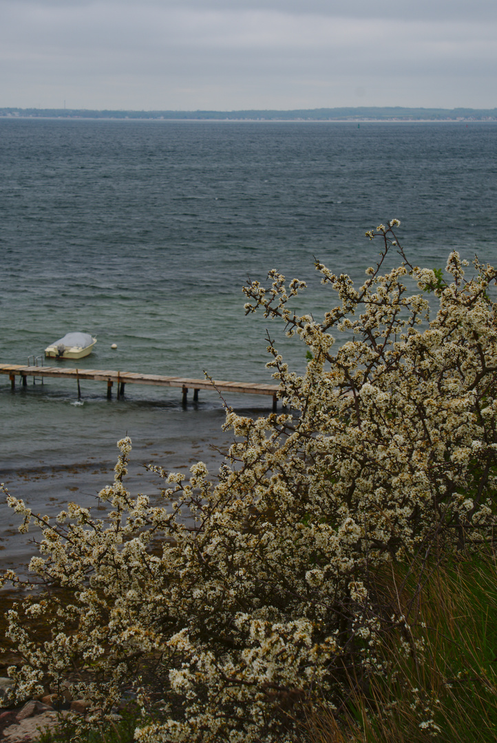
[[[308,280],[295,309],[319,317],[314,256],[361,280],[379,249],[364,233],[392,217],[414,262],[444,266],[454,248],[494,262],[496,152],[496,123],[0,120],[0,362],[82,330],[98,343],[81,367],[270,381],[247,276]],[[299,342],[279,343],[302,369]],[[228,398],[250,415],[268,400]],[[0,478],[35,510],[93,503],[126,432],[131,490],[147,493],[143,462],[215,468],[210,444],[229,440],[215,393],[183,409],[175,389],[108,401],[83,382],[81,402],[71,382],[12,394],[0,377]],[[30,547],[0,509],[0,560],[19,562]]]

